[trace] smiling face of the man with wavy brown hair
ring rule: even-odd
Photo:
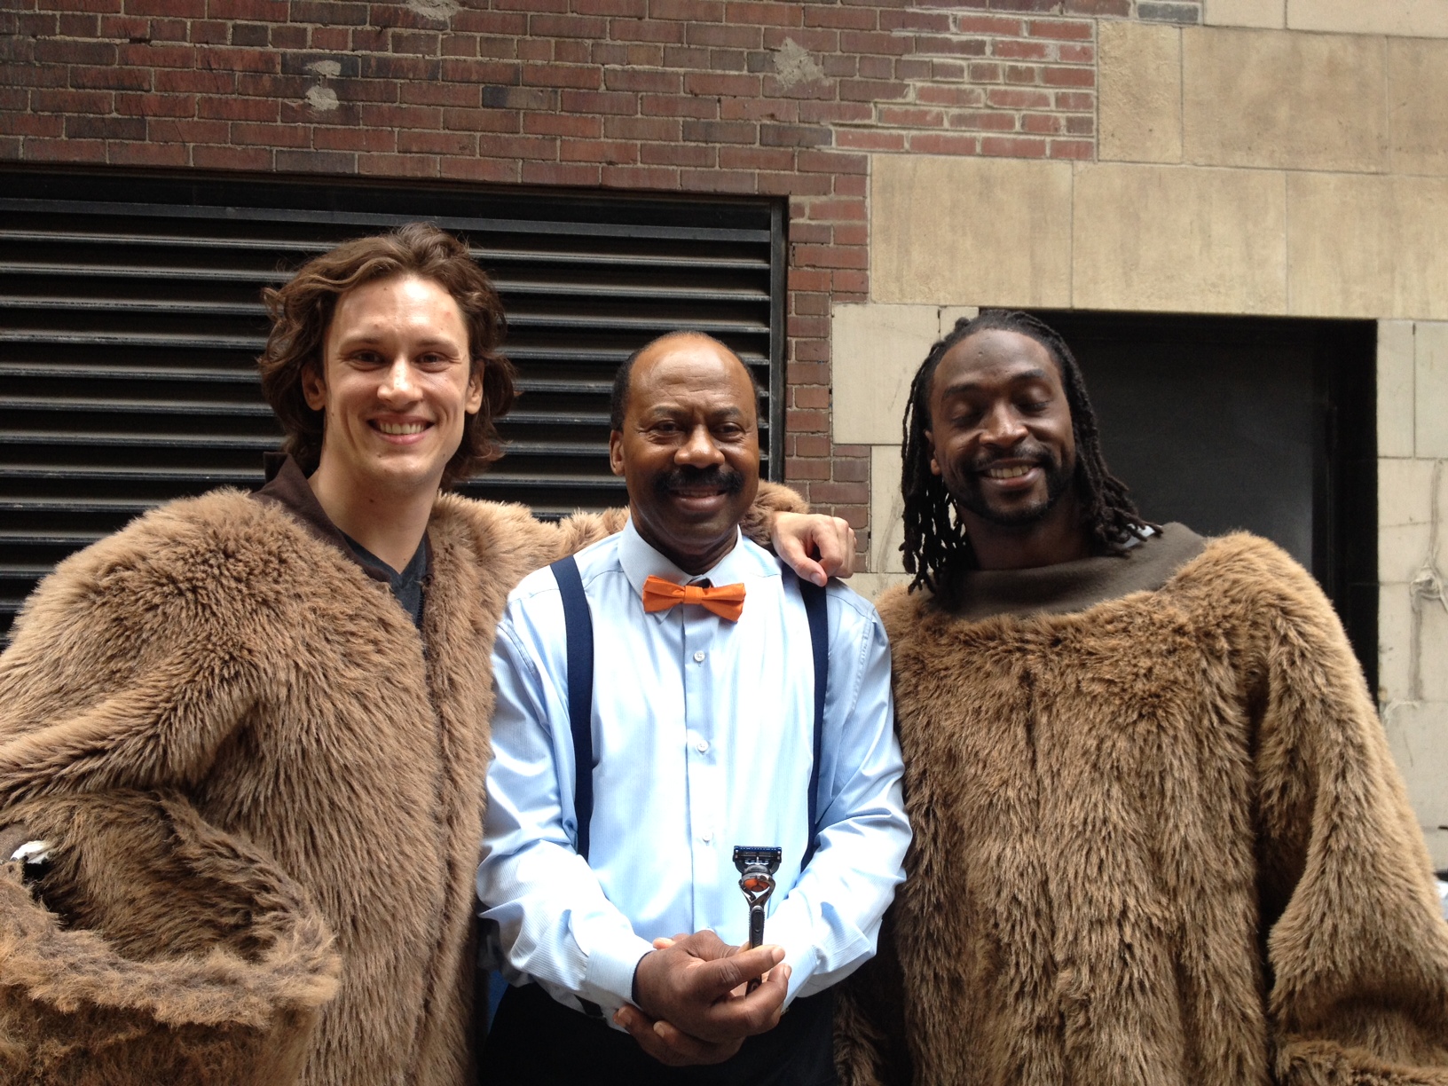
[[[413,275],[365,282],[337,300],[321,355],[303,381],[324,414],[319,475],[378,497],[436,491],[482,407],[452,295]]]

